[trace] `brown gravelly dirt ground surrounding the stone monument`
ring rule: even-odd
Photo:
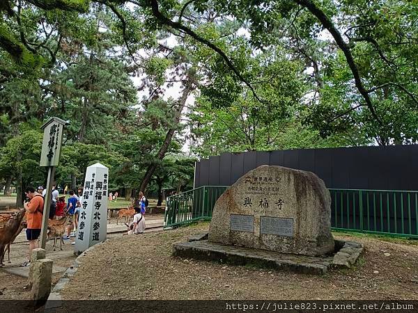
[[[207,230],[202,223],[111,239],[83,257],[61,294],[68,300],[418,299],[417,241],[335,233],[366,249],[355,268],[323,276],[171,257],[173,243]]]

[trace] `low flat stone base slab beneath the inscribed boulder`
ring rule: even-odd
[[[205,236],[200,236],[202,239]],[[343,252],[339,252],[343,250]],[[331,266],[350,268],[355,264],[363,251],[361,243],[355,241],[335,241],[335,252],[323,257],[309,257],[293,255],[268,250],[227,246],[208,240],[196,240],[196,236],[189,242],[173,245],[173,255],[207,261],[221,261],[235,265],[254,265],[264,268],[275,268],[281,271],[322,275]]]

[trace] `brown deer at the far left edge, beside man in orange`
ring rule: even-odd
[[[25,209],[20,209],[20,211],[10,216],[6,223],[0,224],[0,266],[3,266],[6,248],[8,248],[10,262],[10,243],[13,243],[16,236],[22,232],[22,221],[25,213]]]

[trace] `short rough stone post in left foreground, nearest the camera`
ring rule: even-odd
[[[33,263],[31,299],[45,303],[51,292],[52,259],[38,259]]]

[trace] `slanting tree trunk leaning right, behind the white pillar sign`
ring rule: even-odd
[[[174,113],[174,125],[178,125],[180,122],[181,112],[183,111],[187,97],[189,97],[189,94],[194,90],[194,85],[192,83],[187,83],[185,90],[183,90],[183,95],[178,100],[178,108],[176,113]],[[167,150],[169,149],[171,139],[173,138],[174,132],[176,131],[176,128],[171,128],[169,131],[167,131],[166,138],[164,139],[164,143],[162,143],[162,146],[160,147],[160,150],[158,150],[157,154],[155,155],[155,159],[162,160],[165,157],[165,154]],[[146,169],[146,173],[144,175],[144,179],[142,179],[141,187],[139,188],[141,191],[145,192],[146,187],[148,186],[148,183],[150,182],[151,177],[153,177],[153,174],[155,172],[155,169],[157,168],[157,162],[150,163],[148,168]]]

